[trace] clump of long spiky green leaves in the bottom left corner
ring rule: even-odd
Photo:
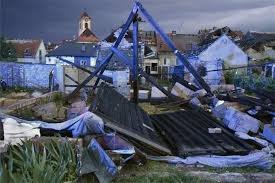
[[[0,182],[61,183],[76,179],[73,146],[51,140],[10,146],[0,163]]]

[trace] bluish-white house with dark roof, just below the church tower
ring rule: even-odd
[[[65,42],[46,55],[46,64],[64,63],[59,58],[69,60],[80,66],[96,66],[99,47],[97,44]]]

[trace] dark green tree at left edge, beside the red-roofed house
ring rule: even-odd
[[[0,38],[0,60],[16,61],[16,50],[11,43],[7,43],[4,38]]]

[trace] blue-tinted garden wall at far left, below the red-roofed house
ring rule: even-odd
[[[52,70],[56,73],[55,65],[0,62],[0,78],[8,86],[48,88]]]

